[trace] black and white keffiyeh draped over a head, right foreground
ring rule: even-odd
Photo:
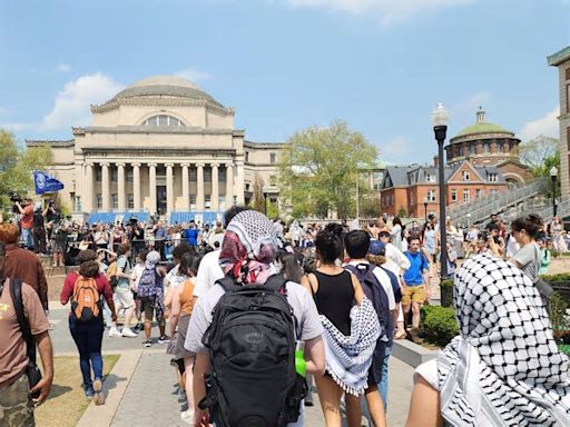
[[[445,421],[570,426],[568,358],[558,350],[531,280],[501,259],[479,255],[455,275],[454,304],[461,335],[438,357]]]

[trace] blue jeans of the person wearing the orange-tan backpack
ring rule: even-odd
[[[83,387],[87,390],[92,387],[91,368],[95,378],[102,379],[102,319],[80,321],[71,315],[69,316],[69,331],[79,350],[79,368],[83,377]]]

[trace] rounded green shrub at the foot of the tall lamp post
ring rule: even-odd
[[[455,310],[451,307],[422,307],[420,335],[431,344],[445,347],[456,335],[459,335]]]

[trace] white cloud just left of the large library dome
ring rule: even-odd
[[[90,105],[107,101],[121,89],[112,78],[100,72],[81,76],[68,82],[56,96],[53,108],[40,122],[11,122],[0,126],[14,132],[53,131],[85,126],[91,120]]]

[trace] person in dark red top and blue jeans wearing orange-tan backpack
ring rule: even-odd
[[[102,405],[105,403],[105,397],[101,393],[102,298],[105,298],[109,306],[112,321],[117,321],[117,315],[115,312],[115,302],[112,300],[112,290],[109,280],[99,271],[97,252],[91,249],[82,250],[79,252],[78,260],[80,262],[79,272],[70,271],[67,275],[63,288],[61,289],[60,301],[63,306],[69,302],[79,280],[95,280],[99,295],[99,300],[97,301],[99,315],[94,319],[82,320],[77,318],[77,315],[73,312],[73,307],[71,307],[71,311],[69,312],[69,331],[79,351],[79,368],[83,377],[85,395],[88,398],[92,398],[96,405]],[[94,377],[91,377],[91,369]]]

